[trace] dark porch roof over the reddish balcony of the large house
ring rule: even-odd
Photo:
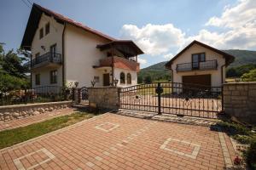
[[[143,50],[137,47],[137,45],[131,40],[114,40],[105,44],[97,45],[96,48],[101,50],[108,50],[111,48],[117,49],[125,57],[133,57],[139,54],[144,54]]]

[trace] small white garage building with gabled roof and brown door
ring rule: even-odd
[[[193,41],[166,63],[172,71],[172,82],[220,87],[225,81],[225,68],[234,56]]]

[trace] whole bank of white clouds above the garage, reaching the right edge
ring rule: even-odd
[[[209,27],[218,30],[210,31]],[[120,33],[121,37],[136,42],[145,54],[162,55],[165,59],[171,59],[193,40],[219,49],[253,49],[256,48],[256,0],[238,0],[235,5],[227,5],[219,17],[213,16],[205,28],[189,37],[172,23],[141,28],[124,25]]]

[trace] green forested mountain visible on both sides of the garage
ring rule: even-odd
[[[240,50],[240,49],[228,49],[222,50],[227,54],[231,54],[236,57],[235,61],[229,66],[241,66],[247,64],[256,64],[256,51]],[[150,76],[153,81],[169,80],[171,79],[170,71],[166,69],[166,62],[163,61],[155,65],[150,65],[141,69],[138,73],[138,80],[144,80],[145,77]]]

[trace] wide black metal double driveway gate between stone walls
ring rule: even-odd
[[[222,87],[178,82],[140,84],[119,91],[120,108],[159,114],[217,118],[222,113]]]

